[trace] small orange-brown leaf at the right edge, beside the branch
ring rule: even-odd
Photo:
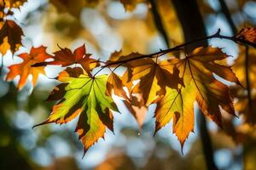
[[[236,35],[236,38],[256,43],[256,28],[245,27]]]

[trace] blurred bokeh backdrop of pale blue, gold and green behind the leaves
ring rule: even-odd
[[[22,27],[24,47],[17,54],[29,52],[30,48],[44,45],[49,54],[58,46],[78,48],[85,43],[87,52],[96,59],[106,60],[114,51],[128,54],[139,52],[150,54],[167,48],[164,37],[157,30],[148,3],[143,0],[122,4],[111,0],[28,0],[20,9],[14,9],[13,19]],[[128,1],[129,2],[129,1]],[[83,5],[81,5],[83,4]],[[207,26],[207,34],[218,28],[222,34],[232,35],[220,4],[215,0],[198,0]],[[255,26],[256,2],[227,0],[236,26]],[[159,0],[158,9],[166,27],[170,44],[183,42],[183,32],[170,0]],[[234,42],[213,39],[209,43],[224,48],[234,56],[239,54]],[[50,91],[58,82],[56,77],[63,69],[47,66],[47,76],[41,75],[37,86],[31,82],[17,91],[14,82],[5,82],[9,65],[20,63],[9,52],[3,57],[0,79],[0,167],[3,169],[206,169],[201,149],[199,130],[183,147],[172,133],[172,122],[154,134],[154,105],[145,112],[142,129],[125,105],[115,98],[121,114],[114,113],[114,132],[107,131],[83,156],[83,146],[74,133],[77,120],[61,126],[49,124],[32,129],[49,116],[54,103],[46,102]],[[30,77],[31,78],[31,77]],[[196,117],[195,117],[196,119]],[[207,121],[212,139],[213,159],[219,169],[256,168],[256,131],[243,123],[243,118],[227,117],[227,128],[219,129]],[[195,123],[198,124],[198,123]]]

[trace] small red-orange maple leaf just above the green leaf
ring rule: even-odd
[[[73,64],[80,64],[88,74],[99,64],[96,62],[96,59],[91,59],[91,54],[86,54],[85,46],[82,45],[79,48],[76,48],[72,52],[69,48],[61,48],[61,50],[56,51],[53,61],[37,63],[33,66],[42,66],[42,65],[61,65],[68,66]]]

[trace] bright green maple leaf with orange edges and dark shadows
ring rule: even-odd
[[[103,137],[106,126],[113,131],[112,111],[118,111],[113,99],[105,94],[107,75],[91,77],[82,68],[67,68],[57,77],[63,82],[49,99],[61,99],[53,106],[45,123],[67,123],[79,116],[76,132],[84,144],[84,153]],[[36,125],[36,126],[38,126]]]

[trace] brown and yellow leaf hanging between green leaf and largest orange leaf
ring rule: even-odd
[[[178,70],[168,71],[163,65],[165,62],[157,63],[154,59],[137,59],[130,62],[132,77],[131,81],[140,80],[134,88],[132,94],[143,94],[145,105],[150,105],[157,100],[160,95],[166,93],[166,86],[177,88],[178,84],[183,84],[183,80],[178,77]]]

